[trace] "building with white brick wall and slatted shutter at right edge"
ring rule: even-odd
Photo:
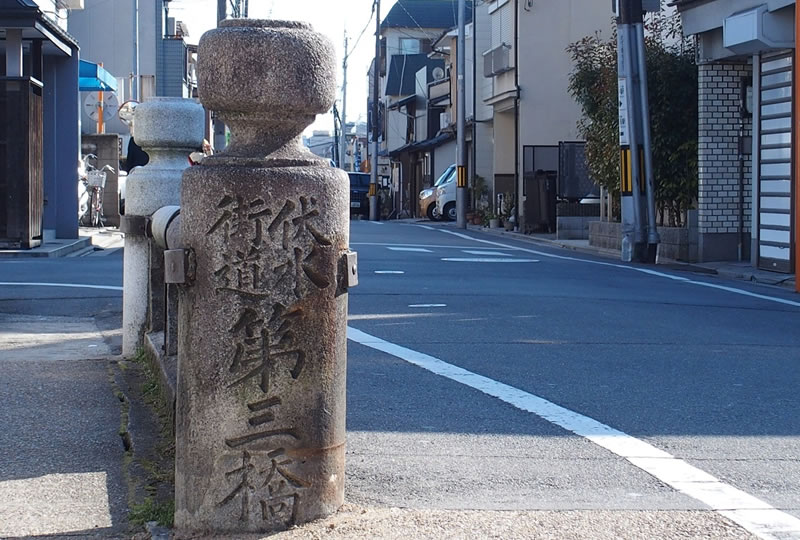
[[[679,0],[697,40],[700,259],[797,270],[793,0]]]

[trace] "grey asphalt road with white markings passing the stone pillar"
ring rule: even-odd
[[[596,514],[619,523],[652,511],[664,530],[680,518],[686,537],[692,520],[713,525],[676,512],[714,508],[750,532],[800,538],[797,295],[452,225],[353,222],[351,246],[349,503],[627,511]],[[5,282],[119,287],[121,252],[0,261]],[[0,285],[0,314],[93,318],[119,352],[114,289]],[[100,377],[99,365],[72,366],[91,371],[74,384]],[[6,362],[0,401],[16,399],[24,367]],[[17,409],[0,412],[12,448],[29,431]],[[14,468],[0,458],[0,487],[26,476]]]

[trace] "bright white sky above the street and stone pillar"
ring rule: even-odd
[[[396,0],[381,0],[383,18]],[[375,56],[375,20],[369,25],[372,0],[250,0],[250,18],[273,18],[298,20],[311,23],[314,30],[325,34],[336,47],[337,106],[342,99],[342,58],[344,55],[344,33],[350,40],[351,53],[347,68],[347,121],[367,119],[367,70]],[[204,32],[217,24],[216,0],[173,0],[170,2],[170,17],[183,21],[189,27],[189,43],[197,43]],[[367,28],[353,49],[353,43],[364,28]],[[332,115],[320,115],[311,129],[333,130]]]

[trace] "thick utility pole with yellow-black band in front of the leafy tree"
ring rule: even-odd
[[[617,64],[622,260],[654,263],[659,237],[656,228],[643,13],[642,0],[619,0]]]

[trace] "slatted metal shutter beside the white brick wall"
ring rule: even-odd
[[[762,54],[759,106],[758,266],[791,273],[792,52]]]

